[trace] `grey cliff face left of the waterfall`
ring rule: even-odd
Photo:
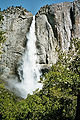
[[[5,32],[6,41],[2,45],[0,74],[7,78],[16,73],[17,64],[25,51],[26,33],[33,15],[22,7],[9,7],[2,14],[4,21],[0,29]]]

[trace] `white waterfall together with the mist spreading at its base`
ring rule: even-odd
[[[36,35],[35,35],[35,16],[33,16],[30,31],[27,33],[26,51],[23,56],[23,79],[21,82],[13,80],[9,82],[9,89],[14,89],[15,93],[22,98],[26,98],[27,94],[33,94],[36,89],[41,89],[42,84],[40,80],[40,67],[36,52]]]

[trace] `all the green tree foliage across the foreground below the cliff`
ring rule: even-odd
[[[0,84],[1,120],[74,120],[80,90],[80,40],[74,40],[75,55],[61,53],[42,78],[43,88],[20,100]],[[70,61],[68,61],[70,60]]]

